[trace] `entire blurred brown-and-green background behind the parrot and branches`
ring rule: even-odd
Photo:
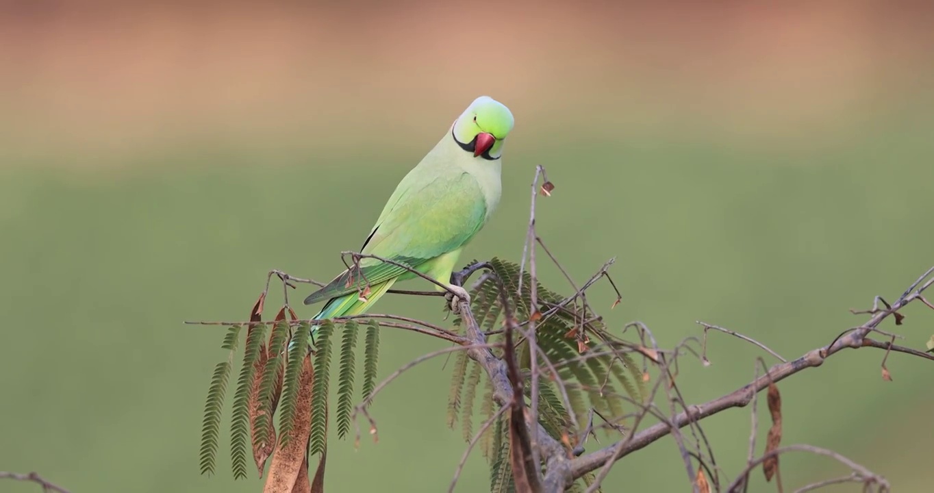
[[[198,474],[225,353],[221,331],[182,321],[247,317],[271,268],[336,274],[338,252],[360,246],[479,94],[517,127],[501,208],[464,261],[519,258],[543,164],[557,188],[539,232],[559,260],[583,280],[617,258],[623,303],[610,312],[610,289],[591,295],[612,326],[642,320],[670,346],[701,319],[789,359],[827,344],[863,319],[849,308],[897,298],[934,264],[931,10],[14,3],[0,12],[0,470],[74,492],[259,491],[255,477],[233,482],[225,444],[219,474]],[[442,315],[433,299],[380,306]],[[897,329],[905,345],[932,332],[922,308]],[[380,376],[440,346],[387,332]],[[690,402],[743,385],[760,356],[722,334],[709,350],[709,368],[681,366]],[[920,491],[930,366],[893,355],[884,382],[882,357],[849,351],[783,382],[783,443]],[[379,396],[379,444],[334,442],[328,490],[446,489],[465,446],[446,429],[447,385],[437,359]],[[748,409],[703,422],[730,478],[749,423]],[[846,473],[823,458],[781,464],[786,488]],[[605,490],[686,487],[665,439]],[[459,491],[486,488],[477,453]]]

